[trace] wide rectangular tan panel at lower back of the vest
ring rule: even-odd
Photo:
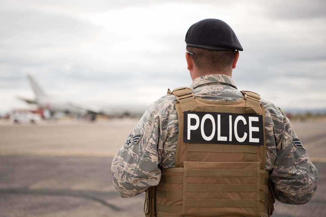
[[[259,166],[184,161],[182,216],[259,217]]]

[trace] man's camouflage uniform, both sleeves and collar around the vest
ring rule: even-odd
[[[234,80],[226,75],[196,78],[190,88],[210,101],[243,98]],[[112,162],[115,188],[122,197],[132,197],[159,183],[160,168],[175,167],[178,139],[176,97],[165,95],[154,102],[127,137]],[[289,119],[273,103],[262,100],[265,108],[267,159],[275,198],[287,204],[307,203],[314,195],[318,171],[296,136]]]

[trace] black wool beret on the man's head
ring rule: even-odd
[[[185,43],[188,47],[216,51],[243,51],[231,27],[217,19],[205,19],[190,26],[185,35]]]

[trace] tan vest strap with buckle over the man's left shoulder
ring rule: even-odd
[[[196,107],[195,95],[190,88],[178,87],[173,90],[172,94],[177,97],[177,100],[181,105],[182,111],[190,111]]]

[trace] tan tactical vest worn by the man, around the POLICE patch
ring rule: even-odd
[[[170,90],[168,94],[171,94]],[[242,91],[244,98],[233,102],[203,100],[195,97],[187,87],[176,88],[172,94],[178,100],[175,107],[179,119],[175,168],[161,169],[159,184],[147,190],[144,207],[146,216],[272,215],[274,195],[269,184],[269,172],[264,170],[265,111],[259,94]],[[263,144],[184,142],[186,111],[228,113],[230,118],[232,114],[261,115]]]

